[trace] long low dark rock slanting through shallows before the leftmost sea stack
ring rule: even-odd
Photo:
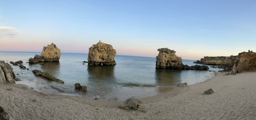
[[[58,79],[58,78],[52,76],[51,74],[49,74],[49,73],[47,73],[47,72],[43,72],[43,71],[37,70],[37,69],[33,70],[32,72],[33,72],[36,76],[41,76],[41,77],[43,77],[43,78],[45,78],[45,79],[48,79],[48,80],[50,80],[50,81],[56,81],[56,82],[59,82],[59,83],[62,83],[62,84],[64,83],[64,82],[61,81],[60,79]]]

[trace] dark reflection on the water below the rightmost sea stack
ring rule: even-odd
[[[180,81],[182,70],[156,69],[156,82],[159,86],[170,86]]]

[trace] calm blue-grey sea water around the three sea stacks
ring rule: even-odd
[[[28,62],[39,52],[0,52],[0,60]],[[116,55],[116,66],[87,66],[87,54],[62,53],[59,63],[46,62],[43,65],[23,63],[29,70],[12,66],[17,78],[36,91],[49,94],[80,95],[89,98],[124,100],[130,97],[149,97],[161,92],[163,87],[175,87],[179,82],[197,84],[212,78],[209,71],[156,69],[156,58]],[[195,65],[194,60],[183,60],[183,64]],[[62,79],[65,84],[36,77],[33,69],[48,71]],[[219,70],[210,68],[211,70]],[[74,84],[87,86],[87,93],[76,91]]]

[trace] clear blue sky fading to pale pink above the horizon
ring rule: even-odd
[[[175,50],[182,59],[256,51],[252,0],[31,0],[0,1],[0,51],[88,53],[99,40],[119,55],[156,57]]]

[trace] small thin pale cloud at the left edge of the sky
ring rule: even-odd
[[[14,37],[16,35],[17,35],[17,31],[15,31],[15,28],[0,26],[0,37]]]

